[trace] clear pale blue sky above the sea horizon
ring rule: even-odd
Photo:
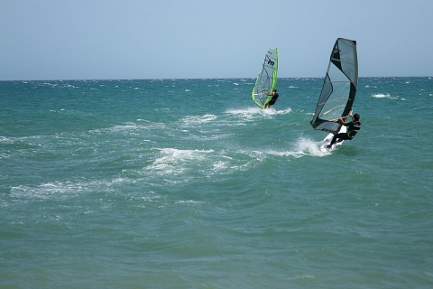
[[[324,77],[336,38],[359,75],[433,76],[431,0],[0,0],[0,80]]]

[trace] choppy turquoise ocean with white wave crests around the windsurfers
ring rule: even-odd
[[[431,288],[433,78],[0,81],[0,288]]]

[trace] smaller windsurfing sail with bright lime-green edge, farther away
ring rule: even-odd
[[[260,70],[259,76],[255,80],[255,85],[251,96],[254,102],[260,107],[271,100],[272,96],[268,94],[272,93],[272,90],[277,84],[278,74],[278,51],[276,48],[270,48],[264,56],[262,64],[262,70]]]

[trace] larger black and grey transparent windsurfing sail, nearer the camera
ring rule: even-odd
[[[310,122],[311,126],[336,134],[341,127],[338,117],[348,115],[355,101],[357,85],[356,42],[338,38],[331,52],[318,106]]]

